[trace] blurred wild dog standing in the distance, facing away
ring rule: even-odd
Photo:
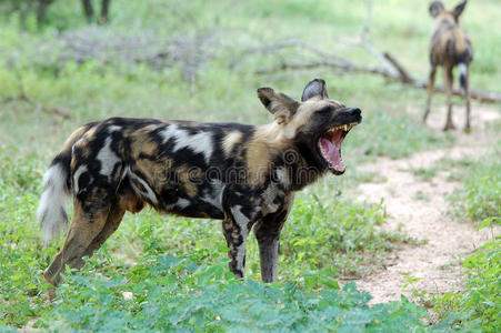
[[[430,113],[431,95],[437,67],[443,69],[443,85],[447,92],[447,122],[444,131],[454,129],[452,123],[452,82],[453,67],[458,67],[459,81],[464,91],[467,123],[464,130],[470,130],[470,62],[473,59],[473,49],[470,39],[459,27],[459,17],[463,12],[467,1],[458,4],[452,11],[445,10],[442,2],[434,1],[430,4],[430,14],[434,18],[433,33],[430,41],[430,74],[428,82],[428,100],[423,121]]]

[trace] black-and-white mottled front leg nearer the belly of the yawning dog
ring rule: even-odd
[[[246,242],[249,230],[252,228],[251,219],[242,213],[241,205],[232,206],[222,221],[222,231],[230,248],[230,271],[237,279],[244,276],[246,271]]]

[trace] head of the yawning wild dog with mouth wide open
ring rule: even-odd
[[[277,137],[291,141],[310,165],[333,174],[344,172],[341,143],[351,128],[362,121],[360,109],[329,99],[321,79],[307,84],[301,101],[271,88],[258,89],[258,97],[275,118]]]

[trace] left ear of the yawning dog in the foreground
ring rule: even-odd
[[[270,111],[279,123],[287,123],[298,111],[299,102],[281,92],[274,92],[271,88],[259,88],[258,97],[261,103]]]

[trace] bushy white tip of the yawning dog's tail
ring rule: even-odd
[[[43,175],[44,191],[40,198],[37,218],[40,221],[46,244],[64,230],[68,221],[66,203],[70,193],[66,185],[67,178],[61,164],[53,164]]]

